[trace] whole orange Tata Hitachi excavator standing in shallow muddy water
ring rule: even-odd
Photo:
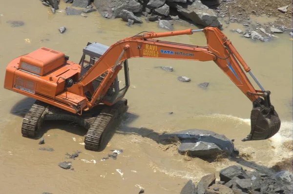
[[[157,39],[195,32],[205,34],[207,46]],[[6,68],[4,88],[36,99],[23,118],[22,135],[39,138],[44,120],[70,120],[87,129],[85,149],[97,151],[113,121],[126,112],[127,60],[139,57],[214,61],[252,102],[251,133],[242,141],[268,139],[279,131],[281,121],[271,104],[271,92],[260,85],[231,41],[218,28],[206,27],[141,32],[110,47],[88,42],[79,64],[46,47],[13,59]],[[123,68],[122,85],[118,73]],[[252,86],[245,72],[261,90]]]

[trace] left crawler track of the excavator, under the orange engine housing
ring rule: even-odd
[[[43,113],[47,104],[36,100],[28,113],[24,116],[21,134],[26,137],[36,137],[42,124]]]

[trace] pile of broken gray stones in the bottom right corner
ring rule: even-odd
[[[281,172],[272,177],[233,165],[220,171],[217,182],[215,174],[202,177],[196,187],[189,180],[181,194],[292,194],[292,175]]]

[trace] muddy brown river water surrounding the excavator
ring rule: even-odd
[[[87,42],[109,46],[141,31],[164,32],[157,28],[156,22],[127,27],[120,19],[104,19],[98,12],[88,14],[87,18],[64,13],[52,15],[41,2],[0,2],[2,85],[10,60],[41,46],[64,52],[70,60],[79,62]],[[60,10],[65,7],[61,2]],[[9,20],[21,20],[24,25],[12,27]],[[61,26],[67,28],[64,34],[58,31]],[[198,28],[175,24],[174,30],[190,27]],[[281,34],[271,42],[253,42],[230,32],[237,27],[243,29],[237,24],[228,28],[224,25],[223,32],[263,87],[272,92],[272,104],[282,120],[280,132],[270,140],[241,141],[250,133],[252,104],[212,61],[134,58],[129,60],[131,86],[126,94],[129,109],[102,152],[84,150],[80,143],[86,131],[69,122],[45,122],[44,145],[38,145],[39,140],[22,137],[22,116],[34,100],[0,88],[1,193],[136,194],[145,188],[148,194],[179,194],[188,179],[196,182],[203,175],[217,173],[229,165],[267,170],[290,157],[291,152],[283,148],[282,143],[292,140],[292,40],[288,34]],[[202,33],[165,39],[206,45]],[[172,66],[174,72],[155,66]],[[179,82],[178,76],[187,76],[191,82]],[[201,82],[209,82],[207,90],[197,86]],[[188,159],[179,155],[176,147],[167,149],[155,141],[157,133],[191,128],[234,138],[236,148],[251,155],[251,159],[242,158],[239,163],[229,159],[209,163],[198,158]],[[40,151],[40,147],[55,151]],[[101,161],[112,149],[122,149],[123,153],[117,160]],[[72,154],[76,150],[82,152],[78,158],[65,159],[65,153]],[[95,160],[96,164],[79,159]],[[74,171],[60,168],[58,163],[62,161],[71,161]]]

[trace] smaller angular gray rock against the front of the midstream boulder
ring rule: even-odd
[[[221,155],[223,151],[214,143],[199,141],[196,143],[181,143],[178,152],[182,155],[189,155],[200,158],[215,158]]]

